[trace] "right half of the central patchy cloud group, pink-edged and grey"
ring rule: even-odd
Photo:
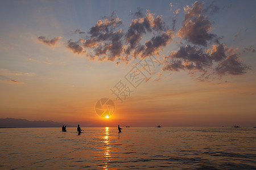
[[[140,41],[147,32],[154,32],[157,35],[153,36],[150,41],[142,45]],[[166,27],[162,15],[154,17],[154,14],[147,10],[144,18],[133,19],[130,24],[125,34],[125,41],[128,44],[125,48],[125,53],[133,54],[134,58],[140,56],[141,53],[141,58],[151,56],[152,54],[158,53],[161,48],[166,46],[171,40],[171,37],[172,31]]]

